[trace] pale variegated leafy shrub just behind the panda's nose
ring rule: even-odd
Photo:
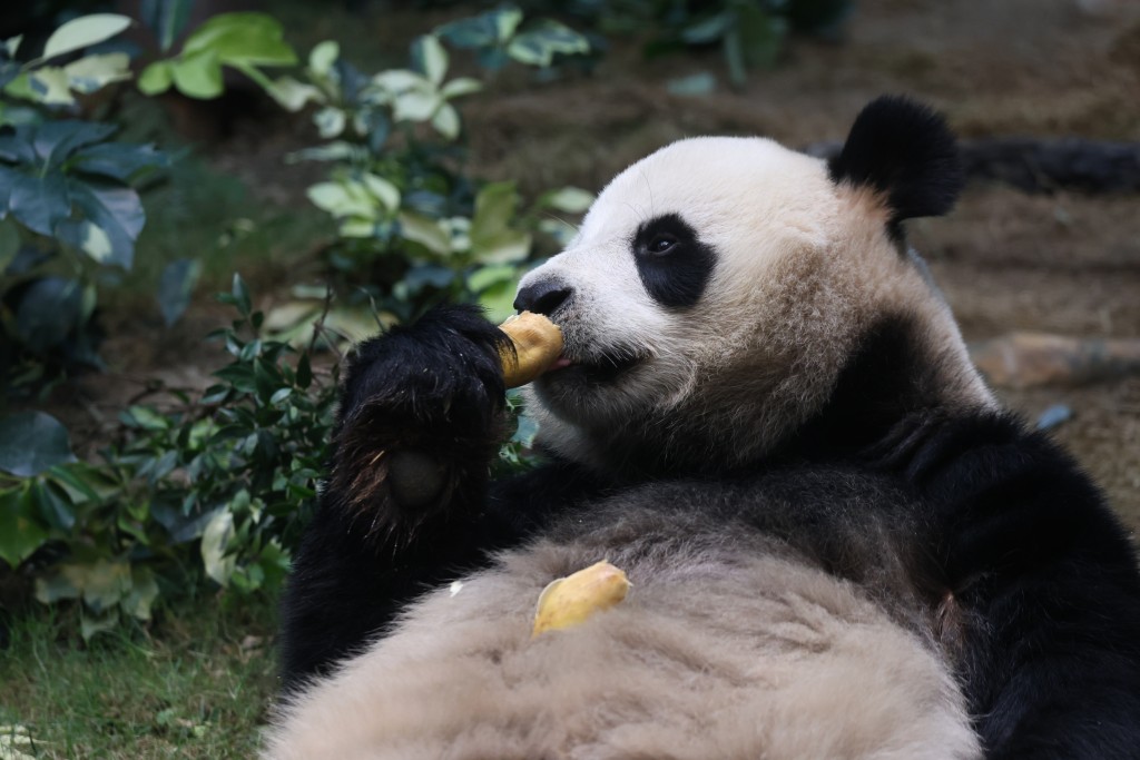
[[[407,68],[365,74],[328,41],[309,54],[301,80],[268,87],[290,111],[316,106],[326,141],[292,160],[329,164],[327,180],[309,188],[312,203],[337,222],[328,261],[353,285],[345,303],[367,300],[388,321],[443,300],[477,301],[492,318],[505,317],[535,236],[564,242],[567,226],[545,216],[580,213],[592,201],[562,188],[522,210],[513,182],[467,174],[457,103],[487,83],[448,79],[445,42],[471,50],[492,72],[508,62],[546,68],[589,49],[557,22],[524,24],[518,8],[505,6],[417,38]]]

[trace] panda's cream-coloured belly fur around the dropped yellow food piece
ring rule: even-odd
[[[854,587],[742,544],[508,553],[296,695],[266,757],[980,757],[917,637]],[[543,587],[603,556],[627,571],[626,600],[532,639]]]

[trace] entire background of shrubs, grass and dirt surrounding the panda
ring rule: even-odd
[[[0,758],[247,757],[351,342],[505,316],[660,146],[826,156],[885,92],[963,139],[907,231],[975,360],[1140,525],[1140,3],[5,3]]]

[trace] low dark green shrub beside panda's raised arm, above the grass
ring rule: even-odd
[[[239,277],[223,300],[238,316],[213,336],[230,356],[218,384],[199,398],[172,392],[170,409],[125,409],[101,464],[63,461],[65,439],[46,415],[0,422],[31,452],[0,450],[0,467],[22,476],[0,480],[0,516],[13,523],[0,558],[63,557],[40,573],[36,596],[82,598],[85,634],[120,610],[149,618],[162,586],[276,588],[311,512],[335,365],[314,371],[309,351],[267,340]]]

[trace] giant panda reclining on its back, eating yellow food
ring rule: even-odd
[[[361,344],[264,757],[1140,757],[1129,539],[906,242],[961,185],[895,97],[831,161],[635,163],[520,283],[565,348],[528,390],[547,460],[510,479],[498,328],[441,307]],[[603,558],[625,602],[532,638]]]

